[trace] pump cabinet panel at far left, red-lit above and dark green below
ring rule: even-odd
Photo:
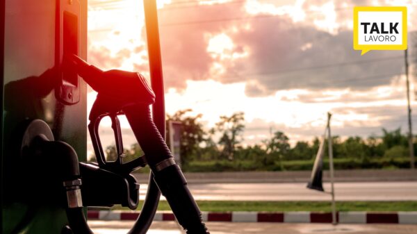
[[[3,0],[0,6],[1,232],[63,233],[65,209],[31,201],[42,180],[22,171],[15,135],[42,119],[55,140],[86,158],[87,88],[65,67],[65,54],[87,56],[86,0]],[[56,155],[58,158],[59,155]],[[36,169],[31,169],[36,174]],[[42,174],[42,172],[40,172]],[[54,175],[51,175],[54,176]],[[26,185],[37,189],[27,190]]]

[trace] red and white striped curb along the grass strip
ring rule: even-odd
[[[88,219],[136,220],[139,212],[88,210]],[[172,212],[156,212],[155,221],[174,220]],[[204,222],[331,223],[332,213],[320,212],[202,212]],[[338,212],[341,224],[417,224],[417,212]]]

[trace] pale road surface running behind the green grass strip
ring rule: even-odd
[[[329,201],[329,194],[306,183],[199,183],[189,185],[196,200]],[[329,183],[324,184],[330,191]],[[147,185],[141,185],[145,198]],[[417,201],[417,181],[335,183],[337,201]]]

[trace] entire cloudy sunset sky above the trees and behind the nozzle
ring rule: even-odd
[[[157,3],[168,114],[191,108],[190,115],[202,113],[208,129],[220,115],[245,112],[244,145],[275,131],[292,144],[312,140],[325,130],[327,112],[333,114],[333,135],[341,137],[381,135],[382,128],[407,131],[404,51],[361,56],[352,48],[352,15],[354,6],[407,6],[416,108],[417,1]],[[145,42],[142,1],[89,1],[90,63],[149,78]],[[89,108],[95,95],[90,90]],[[102,132],[108,127],[104,122]],[[122,127],[129,128],[124,119]],[[125,145],[134,142],[125,137]]]

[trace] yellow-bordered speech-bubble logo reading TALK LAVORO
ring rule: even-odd
[[[407,7],[357,6],[353,9],[353,49],[407,49]]]

